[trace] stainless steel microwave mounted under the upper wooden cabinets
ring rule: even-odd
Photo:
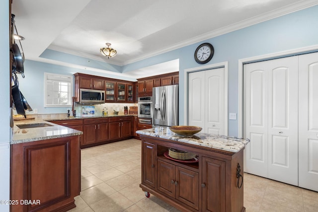
[[[103,104],[105,103],[105,91],[93,89],[79,89],[80,104]]]

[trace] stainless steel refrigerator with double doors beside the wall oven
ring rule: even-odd
[[[178,125],[178,85],[153,88],[153,125]]]

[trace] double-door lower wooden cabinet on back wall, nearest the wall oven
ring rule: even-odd
[[[116,140],[131,137],[132,120],[131,117],[111,117],[109,118],[109,139]]]

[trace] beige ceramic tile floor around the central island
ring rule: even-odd
[[[179,212],[139,188],[141,141],[81,150],[81,192],[70,212]],[[318,183],[318,182],[316,182]],[[246,212],[318,212],[318,192],[244,173]]]

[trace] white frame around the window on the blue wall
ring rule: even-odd
[[[48,87],[47,87],[48,76],[50,76],[50,78],[55,77],[56,78],[55,81],[58,81],[60,83],[62,82],[68,83],[68,104],[47,104],[47,97],[48,95],[50,95],[48,93]],[[59,81],[59,78],[61,78],[61,81]],[[71,107],[72,96],[73,96],[73,81],[74,80],[72,75],[63,75],[63,74],[57,74],[57,73],[44,72],[44,107]]]

